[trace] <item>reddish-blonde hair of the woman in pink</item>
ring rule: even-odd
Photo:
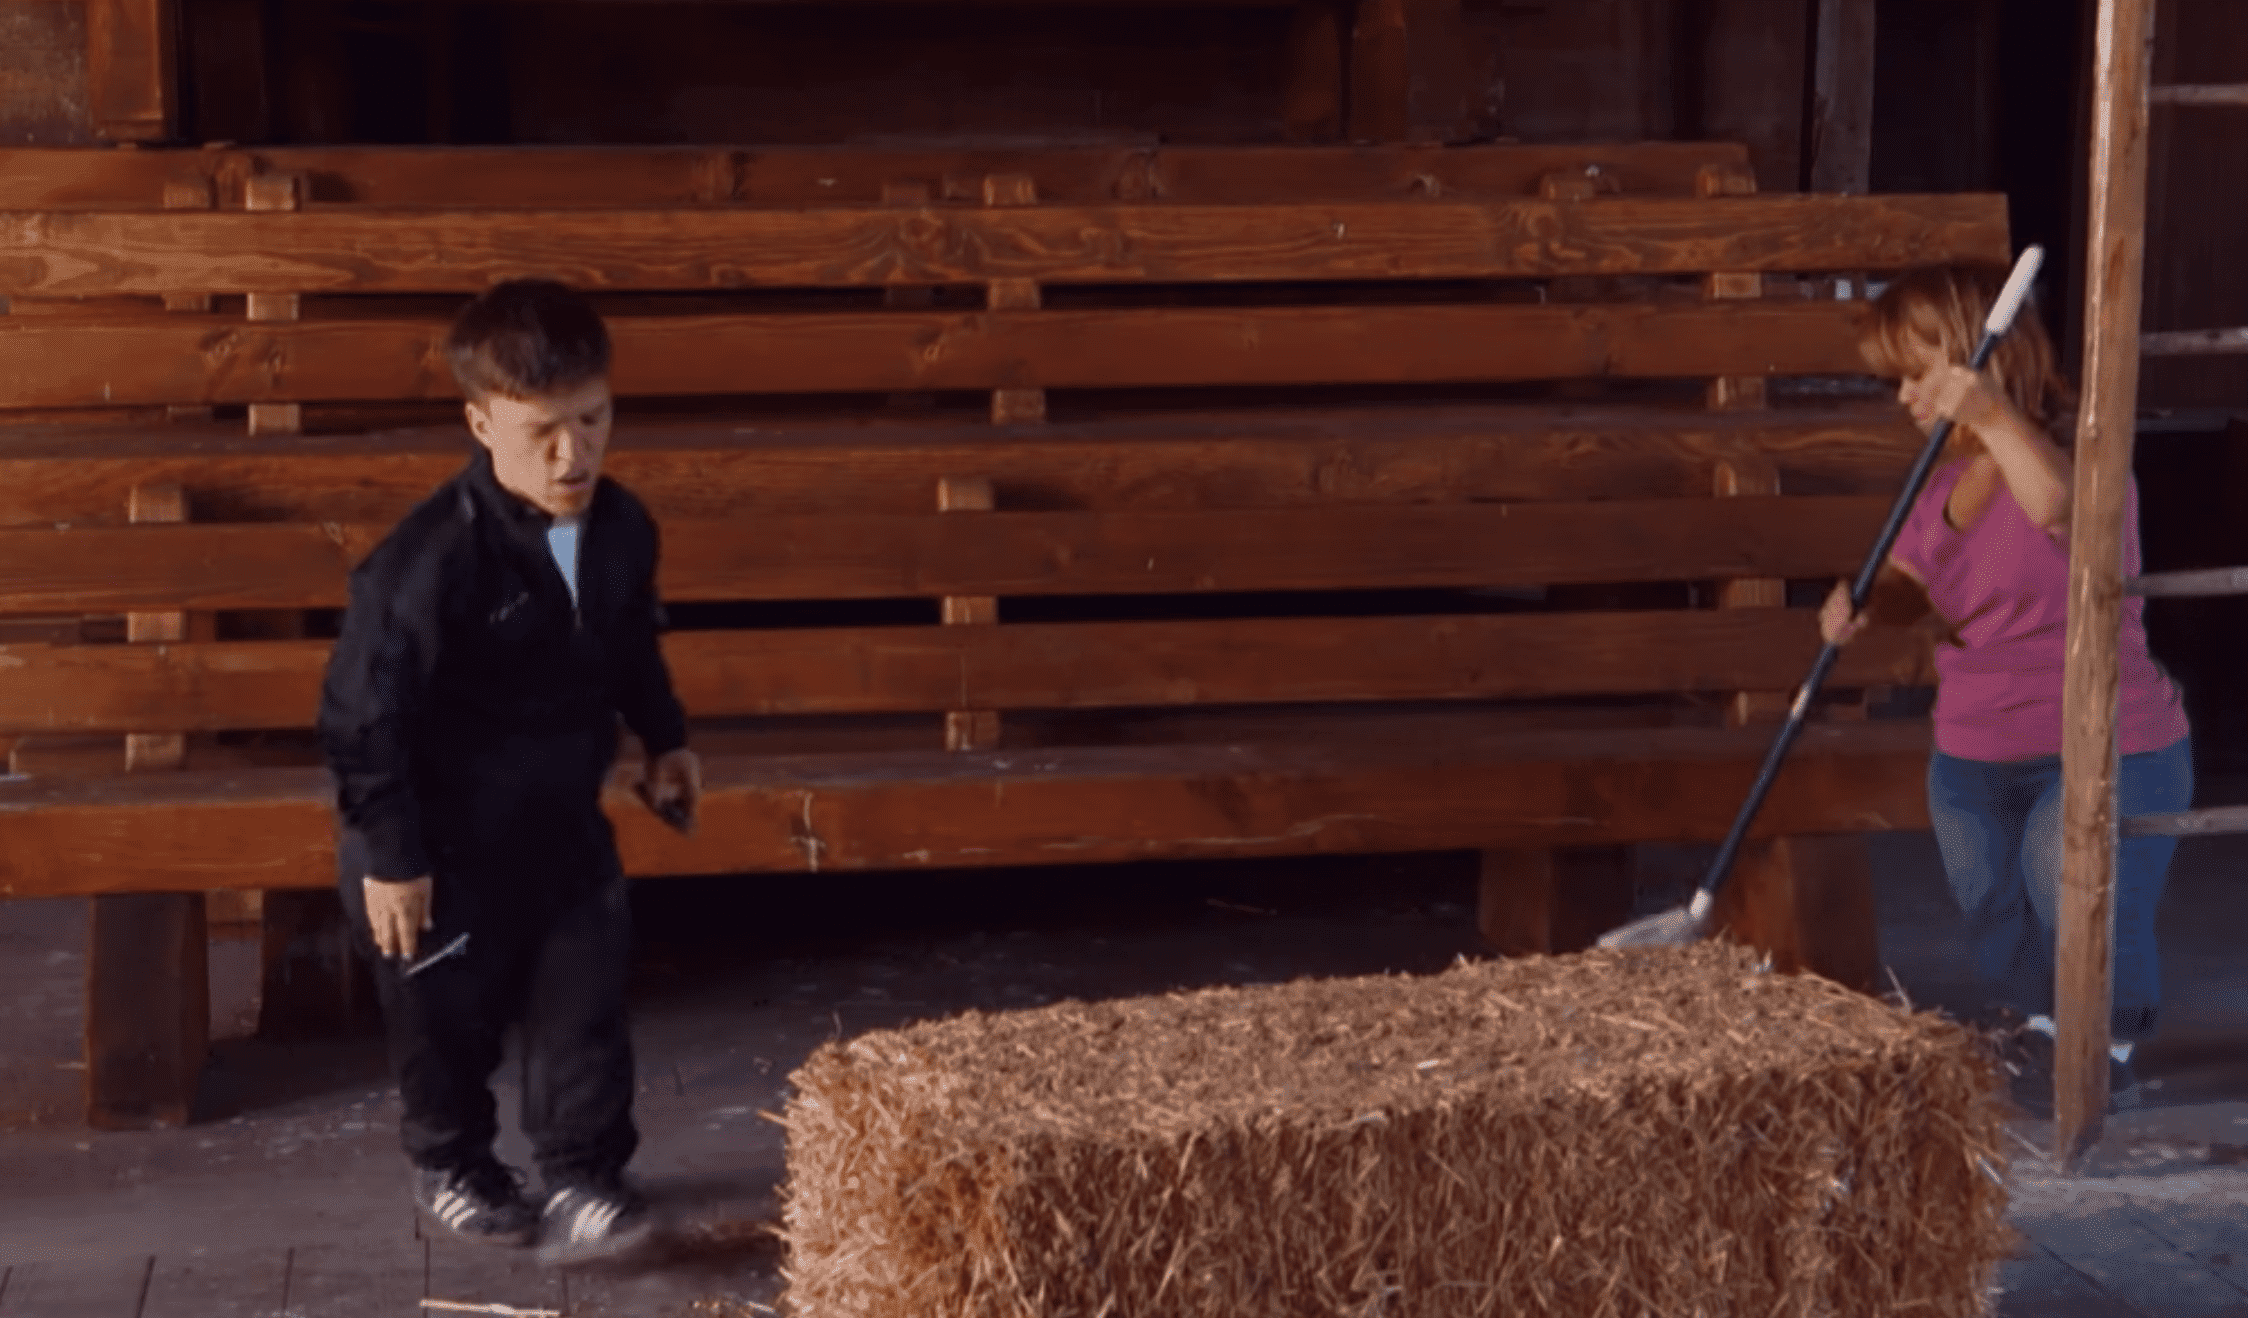
[[[1949,265],[1909,270],[1873,299],[1873,317],[1859,344],[1877,376],[1902,378],[1913,367],[1913,344],[1929,344],[1947,362],[1967,364],[1983,337],[1983,319],[2005,288],[2005,270]],[[2023,306],[2014,331],[1989,355],[1989,373],[2014,407],[2052,432],[2075,407],[2075,391],[2061,378],[2052,340],[2034,306]],[[2055,434],[2066,445],[2066,434]]]

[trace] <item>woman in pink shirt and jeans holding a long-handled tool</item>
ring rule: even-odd
[[[1931,607],[1949,625],[1936,648],[1936,756],[1929,816],[1945,875],[1967,918],[1992,1005],[2052,1035],[2052,931],[2061,906],[2061,668],[2068,628],[2073,405],[2037,315],[1983,373],[1967,369],[2005,272],[1915,270],[1873,304],[1866,360],[1900,380],[1922,430],[1951,441],[1913,504],[1866,612],[1848,585],[1821,612],[1830,641],[1868,621],[1909,623]],[[2127,497],[2124,574],[2136,576],[2138,486]],[[2178,688],[2147,652],[2145,601],[2122,605],[2118,814],[2185,810],[2192,740]],[[2131,837],[2115,852],[2115,1012],[2111,1091],[2136,1102],[2131,1044],[2154,1035],[2160,965],[2154,911],[2176,839]],[[2025,1035],[2028,1039],[2028,1035]]]

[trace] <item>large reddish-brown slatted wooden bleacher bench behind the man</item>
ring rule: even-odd
[[[616,153],[623,209],[560,196],[584,153],[483,153],[537,209],[411,191],[438,153],[256,153],[299,169],[232,200],[218,153],[47,155],[0,214],[0,895],[97,897],[101,1122],[187,1111],[205,893],[335,882],[324,637],[465,454],[364,425],[452,407],[434,346],[492,279],[605,304],[609,472],[663,522],[710,792],[681,839],[616,783],[632,873],[1472,848],[1526,951],[1623,915],[1621,848],[1722,834],[1819,646],[1787,583],[1857,565],[1918,448],[1767,396],[1859,369],[1798,277],[2007,254],[2001,198],[1742,196],[1702,144],[1061,184]],[[1783,965],[1870,978],[1837,839],[1927,825],[1929,733],[1848,693],[1929,679],[1922,639],[1852,646],[1765,807],[1731,922]]]

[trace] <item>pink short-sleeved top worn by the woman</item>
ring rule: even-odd
[[[2061,753],[2061,666],[2068,637],[2068,549],[2039,531],[1998,479],[1989,508],[1967,531],[1945,502],[1967,472],[1947,463],[1929,479],[1891,556],[1929,583],[1936,614],[1960,643],[1936,646],[1936,749],[1963,760]],[[2138,576],[2138,481],[2127,490],[2122,571]],[[2160,751],[2185,735],[2185,706],[2147,652],[2147,601],[2127,596],[2118,639],[2115,751]]]

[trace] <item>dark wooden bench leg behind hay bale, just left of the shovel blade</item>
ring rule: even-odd
[[[1583,951],[1632,915],[1632,848],[1486,850],[1475,902],[1502,956]]]

